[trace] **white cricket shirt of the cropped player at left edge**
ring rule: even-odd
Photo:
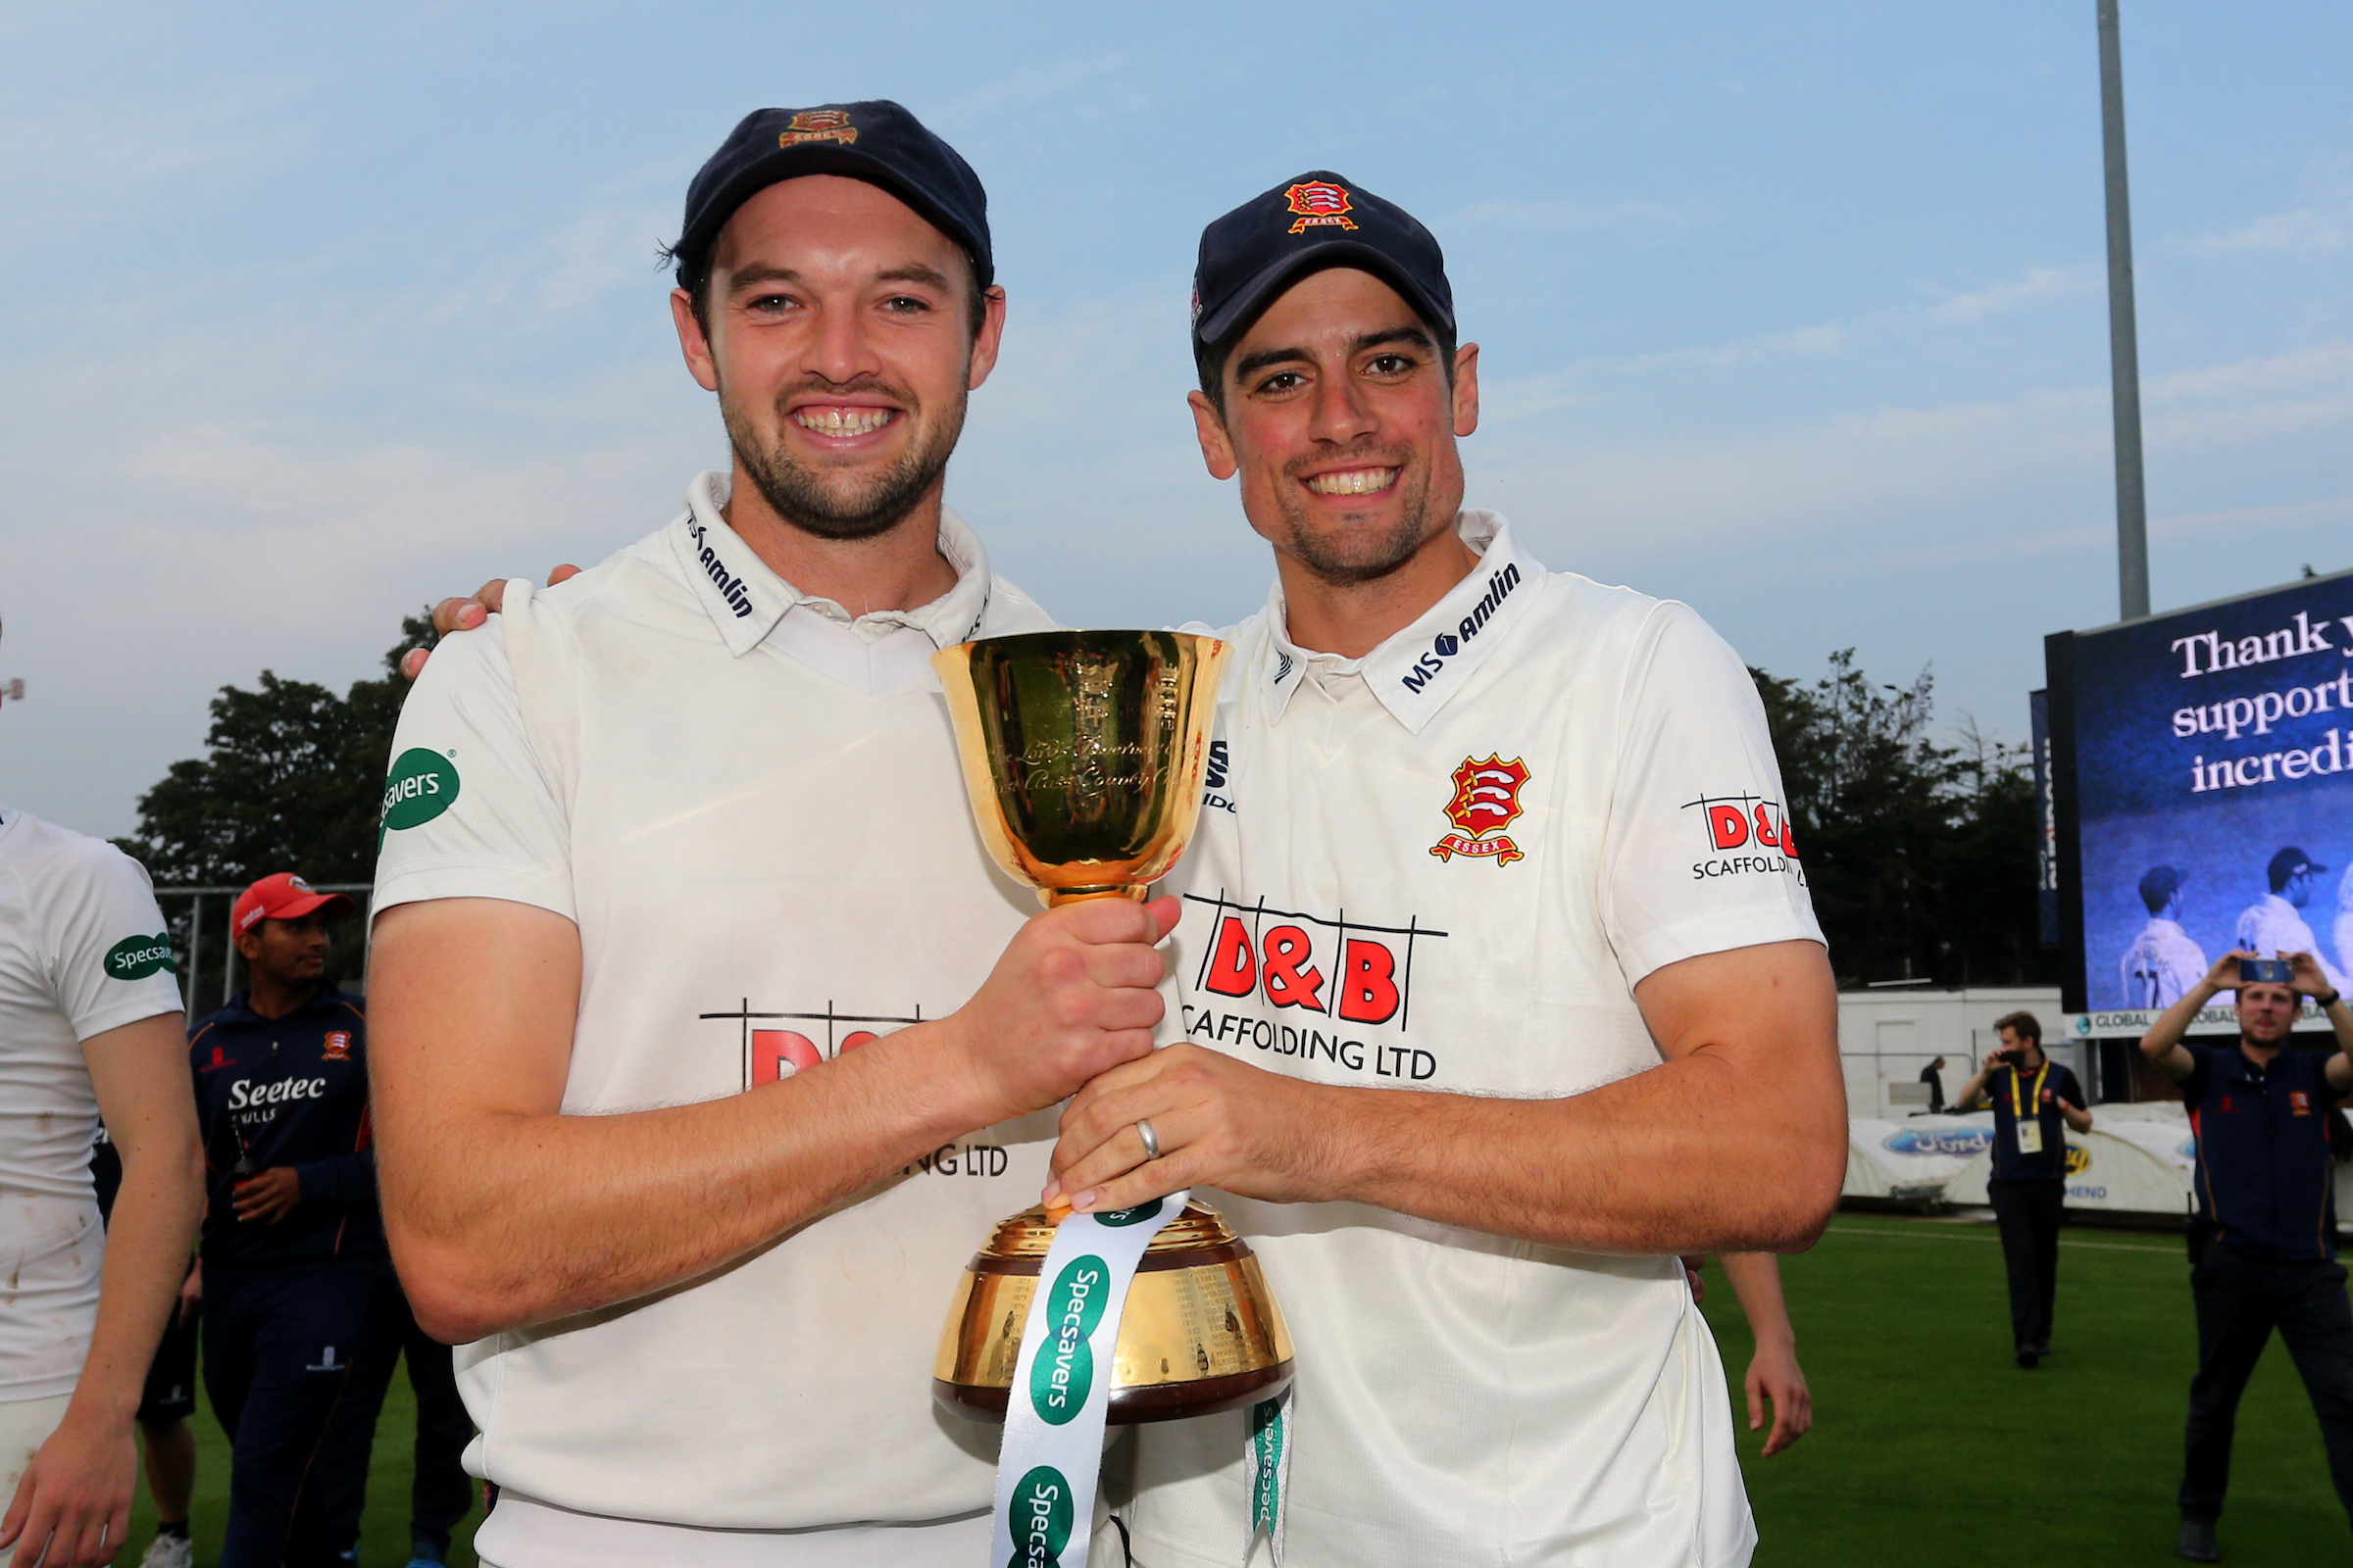
[[[146,867],[0,806],[0,1403],[71,1394],[99,1316],[82,1041],[179,1013]]]

